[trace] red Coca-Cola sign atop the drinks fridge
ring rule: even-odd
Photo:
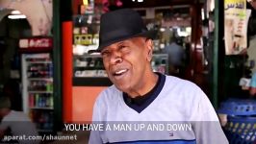
[[[52,48],[53,40],[50,37],[24,38],[19,40],[19,48]]]

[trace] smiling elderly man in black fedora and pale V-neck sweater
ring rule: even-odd
[[[101,16],[96,51],[114,85],[102,91],[94,104],[93,124],[105,127],[91,131],[89,143],[228,143],[215,109],[198,86],[152,71],[154,34],[133,10]],[[168,127],[182,123],[192,129]]]

